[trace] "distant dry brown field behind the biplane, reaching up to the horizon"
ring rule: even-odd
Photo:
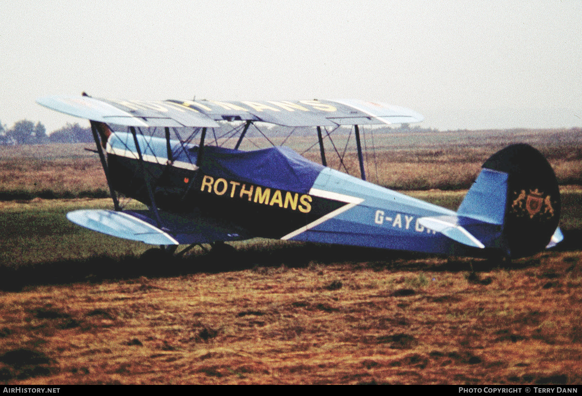
[[[298,136],[286,144],[298,152],[317,143]],[[347,135],[338,135],[343,153]],[[456,131],[376,135],[375,149],[365,150],[368,181],[400,190],[467,189],[491,154],[514,142],[529,142],[548,157],[560,185],[582,185],[582,130]],[[282,142],[282,138],[275,139]],[[353,143],[353,137],[352,141]],[[233,143],[233,142],[231,142]],[[348,146],[340,164],[326,140],[329,167],[360,177],[354,147]],[[107,183],[90,143],[0,147],[0,200],[107,197]],[[255,149],[256,147],[247,147]],[[318,146],[305,153],[320,162]]]

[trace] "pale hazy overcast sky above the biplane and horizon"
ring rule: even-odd
[[[363,99],[440,130],[582,126],[582,1],[3,2],[0,123],[35,100]],[[88,125],[88,123],[87,123]]]

